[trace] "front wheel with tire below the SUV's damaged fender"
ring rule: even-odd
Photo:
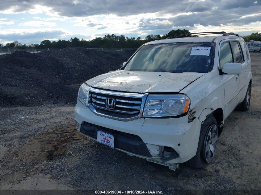
[[[185,162],[185,164],[197,169],[208,165],[215,155],[217,136],[217,121],[212,115],[210,115],[201,125],[196,155],[192,159]],[[207,155],[207,153],[210,154],[210,156]]]

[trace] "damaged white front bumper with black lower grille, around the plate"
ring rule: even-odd
[[[97,130],[110,133],[115,136],[115,149],[174,170],[196,155],[201,123],[187,119],[119,121],[97,116],[79,101],[75,107],[76,127],[83,135],[97,141]]]

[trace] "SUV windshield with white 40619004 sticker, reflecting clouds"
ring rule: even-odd
[[[212,42],[183,42],[144,45],[124,67],[127,71],[208,72]]]

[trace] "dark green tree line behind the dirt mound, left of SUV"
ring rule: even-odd
[[[144,43],[149,41],[166,39],[167,37],[187,34],[190,33],[189,30],[171,30],[164,35],[148,35],[145,39],[138,38],[128,38],[124,35],[115,35],[108,34],[104,35],[104,37],[96,37],[92,40],[78,39],[77,37],[71,38],[70,40],[58,40],[58,41],[50,41],[48,39],[43,40],[40,44],[30,44],[30,45],[22,45],[18,41],[14,41],[13,43],[6,43],[5,46],[0,44],[1,48],[16,48],[16,49],[47,49],[47,48],[65,48],[65,47],[85,47],[85,48],[139,48]]]

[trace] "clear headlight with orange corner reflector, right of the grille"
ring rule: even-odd
[[[179,116],[187,113],[190,100],[183,94],[149,95],[143,117]]]

